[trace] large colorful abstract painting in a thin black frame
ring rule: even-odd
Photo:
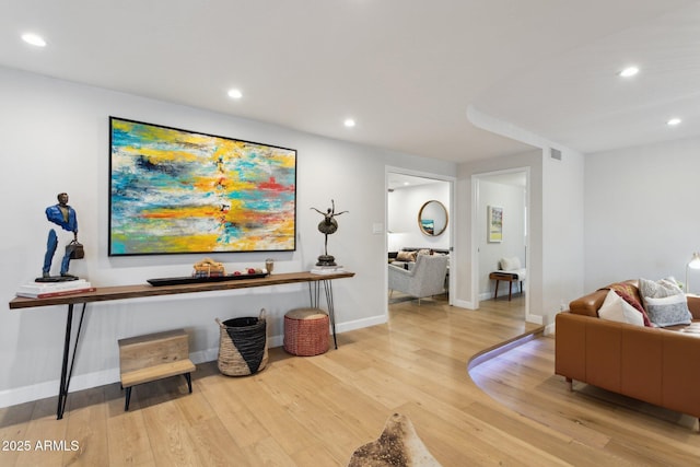
[[[109,256],[295,249],[295,150],[116,117],[109,135]]]

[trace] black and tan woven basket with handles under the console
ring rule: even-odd
[[[259,317],[220,322],[219,371],[228,376],[255,374],[267,365],[267,322],[265,310]]]

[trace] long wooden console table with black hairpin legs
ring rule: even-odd
[[[175,295],[179,293],[211,292],[215,290],[250,289],[256,287],[270,287],[306,282],[308,283],[308,295],[311,299],[312,307],[318,307],[320,287],[323,285],[326,294],[326,304],[328,306],[328,317],[330,318],[330,325],[332,328],[334,345],[337,349],[338,341],[336,339],[336,319],[331,281],[334,279],[351,278],[353,276],[354,272],[335,272],[329,275],[315,275],[312,272],[290,272],[276,273],[255,279],[236,279],[231,281],[188,283],[178,285],[153,287],[150,284],[139,284],[101,287],[93,292],[51,296],[46,299],[26,299],[18,296],[10,302],[10,308],[21,310],[33,308],[37,306],[68,305],[68,317],[66,319],[66,338],[63,341],[63,361],[61,363],[61,381],[58,390],[58,408],[56,409],[56,418],[60,420],[63,418],[63,411],[66,410],[68,387],[70,385],[70,378],[73,373],[75,351],[78,350],[78,341],[80,340],[80,331],[83,326],[83,318],[85,317],[85,306],[88,305],[88,303],[107,302],[113,300],[141,299],[144,296]],[[70,348],[72,341],[73,305],[75,304],[82,304],[82,311],[80,313],[80,322],[78,324],[78,330],[75,332],[75,341],[72,345],[73,349],[71,355]]]

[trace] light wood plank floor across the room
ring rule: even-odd
[[[137,386],[129,412],[118,384],[71,394],[60,421],[55,398],[0,409],[0,465],[343,466],[394,412],[443,466],[698,464],[687,417],[583,384],[568,393],[551,338],[468,373],[483,349],[536,329],[522,314],[520,297],[476,312],[401,302],[388,324],[339,335],[323,355],[270,349],[249,377],[198,365],[191,395],[182,377]],[[45,440],[57,443],[37,450]],[[13,451],[22,441],[30,451]]]

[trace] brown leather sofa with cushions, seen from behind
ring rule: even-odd
[[[654,328],[599,318],[607,293],[576,299],[557,315],[556,374],[570,390],[575,380],[700,420],[700,296],[688,295],[690,325]]]

